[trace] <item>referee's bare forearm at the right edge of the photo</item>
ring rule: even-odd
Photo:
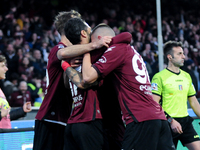
[[[196,96],[191,96],[188,98],[191,108],[193,109],[194,113],[200,118],[200,105],[196,98]]]

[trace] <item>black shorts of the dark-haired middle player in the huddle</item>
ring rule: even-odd
[[[101,150],[102,120],[68,124],[65,129],[64,150]]]

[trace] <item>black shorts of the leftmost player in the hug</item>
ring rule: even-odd
[[[63,150],[64,125],[35,120],[33,150]]]

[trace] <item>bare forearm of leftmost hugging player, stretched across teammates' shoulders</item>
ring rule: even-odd
[[[72,58],[76,56],[80,56],[82,54],[85,54],[87,52],[90,52],[94,49],[99,49],[103,46],[108,47],[108,44],[111,42],[111,36],[104,36],[98,41],[91,42],[88,44],[78,44],[78,45],[71,45],[65,48],[60,49],[57,52],[57,57],[60,60]]]

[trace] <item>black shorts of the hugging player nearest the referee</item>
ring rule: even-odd
[[[122,150],[175,150],[168,122],[149,120],[126,126]]]

